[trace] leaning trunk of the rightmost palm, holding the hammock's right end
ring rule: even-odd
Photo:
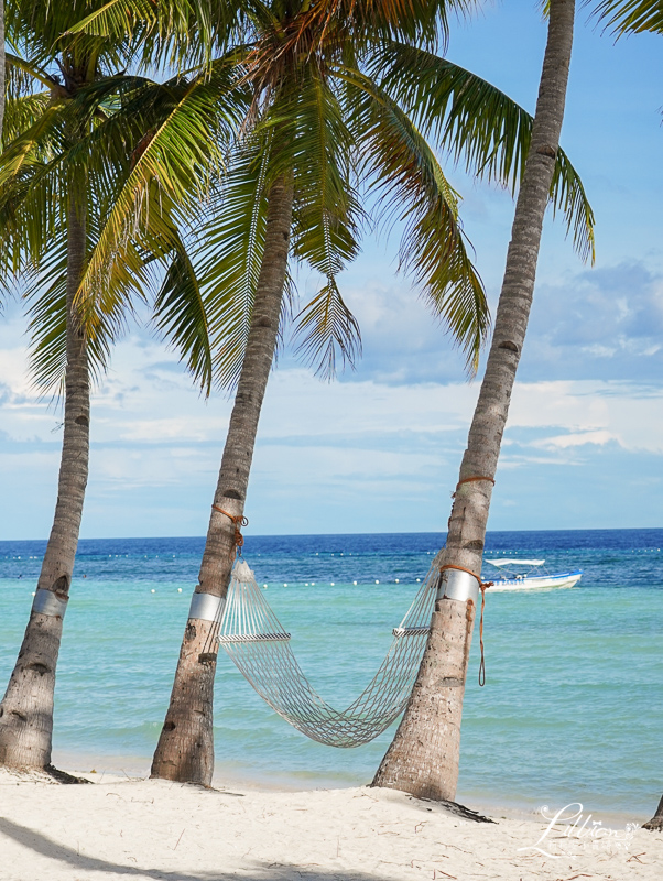
[[[534,292],[543,217],[564,117],[573,26],[574,0],[551,0],[532,143],[515,206],[494,335],[460,466],[447,544],[439,555],[443,567],[461,567],[477,576],[481,573],[492,483]],[[478,592],[478,577],[444,569],[417,679],[373,786],[402,790],[417,797],[455,797]]]

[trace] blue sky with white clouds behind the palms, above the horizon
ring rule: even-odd
[[[616,45],[588,14],[562,140],[597,215],[597,262],[583,264],[548,217],[489,529],[663,523],[663,46]],[[533,110],[544,41],[537,4],[491,3],[454,26],[448,55]],[[446,167],[494,305],[512,200]],[[322,383],[286,352],[272,374],[247,501],[254,534],[444,529],[478,381],[396,274],[394,251],[367,241],[341,279],[362,329],[357,370]],[[0,540],[46,536],[55,502],[61,416],[31,390],[24,345],[10,306]],[[83,536],[204,534],[229,411],[132,330],[95,394]]]

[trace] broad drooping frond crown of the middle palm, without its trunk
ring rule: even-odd
[[[144,289],[145,255],[173,258],[156,297],[157,325],[187,351],[202,384],[214,376],[233,385],[262,260],[267,195],[285,173],[295,186],[291,253],[324,280],[295,317],[304,359],[327,377],[339,358],[355,360],[359,327],[338,274],[359,252],[362,233],[396,224],[401,267],[476,366],[488,328],[485,292],[458,194],[436,151],[514,188],[531,118],[434,53],[447,10],[463,4],[411,6],[249,1],[222,4],[221,14],[219,4],[192,3],[196,64],[164,86],[117,78],[109,93],[119,107],[97,127],[90,155],[105,177],[120,180],[108,173],[111,161],[129,162],[130,173],[112,189],[81,283],[93,338],[97,326],[117,329],[128,292]],[[143,31],[159,33],[159,4],[134,3],[128,18],[131,8],[110,2],[74,30],[110,39],[140,20]],[[154,41],[164,57],[165,43]],[[563,153],[551,196],[576,246],[591,250],[591,209]]]

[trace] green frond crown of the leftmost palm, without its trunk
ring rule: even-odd
[[[20,280],[30,301],[32,366],[43,389],[62,382],[66,361],[65,194],[73,186],[86,193],[86,250],[91,260],[108,215],[140,155],[145,126],[159,124],[187,101],[194,104],[193,109],[187,108],[187,137],[173,150],[172,178],[162,178],[160,210],[152,218],[154,233],[162,236],[170,250],[183,249],[171,217],[173,206],[177,200],[191,203],[230,138],[230,131],[224,130],[226,117],[218,109],[222,70],[205,83],[177,77],[164,84],[124,73],[137,61],[139,50],[157,64],[175,63],[185,46],[177,21],[167,33],[151,23],[122,39],[68,32],[84,12],[101,7],[94,0],[36,8],[18,2],[7,13],[13,52],[7,56],[8,102],[0,156],[0,274],[6,286],[12,278]],[[237,120],[232,120],[236,128]],[[176,186],[169,188],[166,183]],[[97,372],[106,366],[110,344],[135,298],[148,298],[154,287],[150,263],[144,260],[142,272],[134,273],[130,284],[120,273],[107,281],[113,285],[117,308],[113,314],[95,316],[89,354]],[[157,324],[167,324],[169,308],[174,305],[156,304]],[[200,306],[189,304],[189,314],[196,305]],[[180,328],[175,345],[205,383],[209,377],[204,365],[200,367],[202,327],[205,322],[195,328],[195,339]]]

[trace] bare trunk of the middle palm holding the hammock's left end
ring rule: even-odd
[[[264,254],[247,350],[235,395],[214,504],[232,518],[244,510],[262,400],[272,367],[285,286],[293,185],[269,194]],[[235,557],[235,524],[213,508],[205,553],[184,631],[171,703],[152,762],[152,776],[209,785],[214,772],[214,613],[226,596]]]

